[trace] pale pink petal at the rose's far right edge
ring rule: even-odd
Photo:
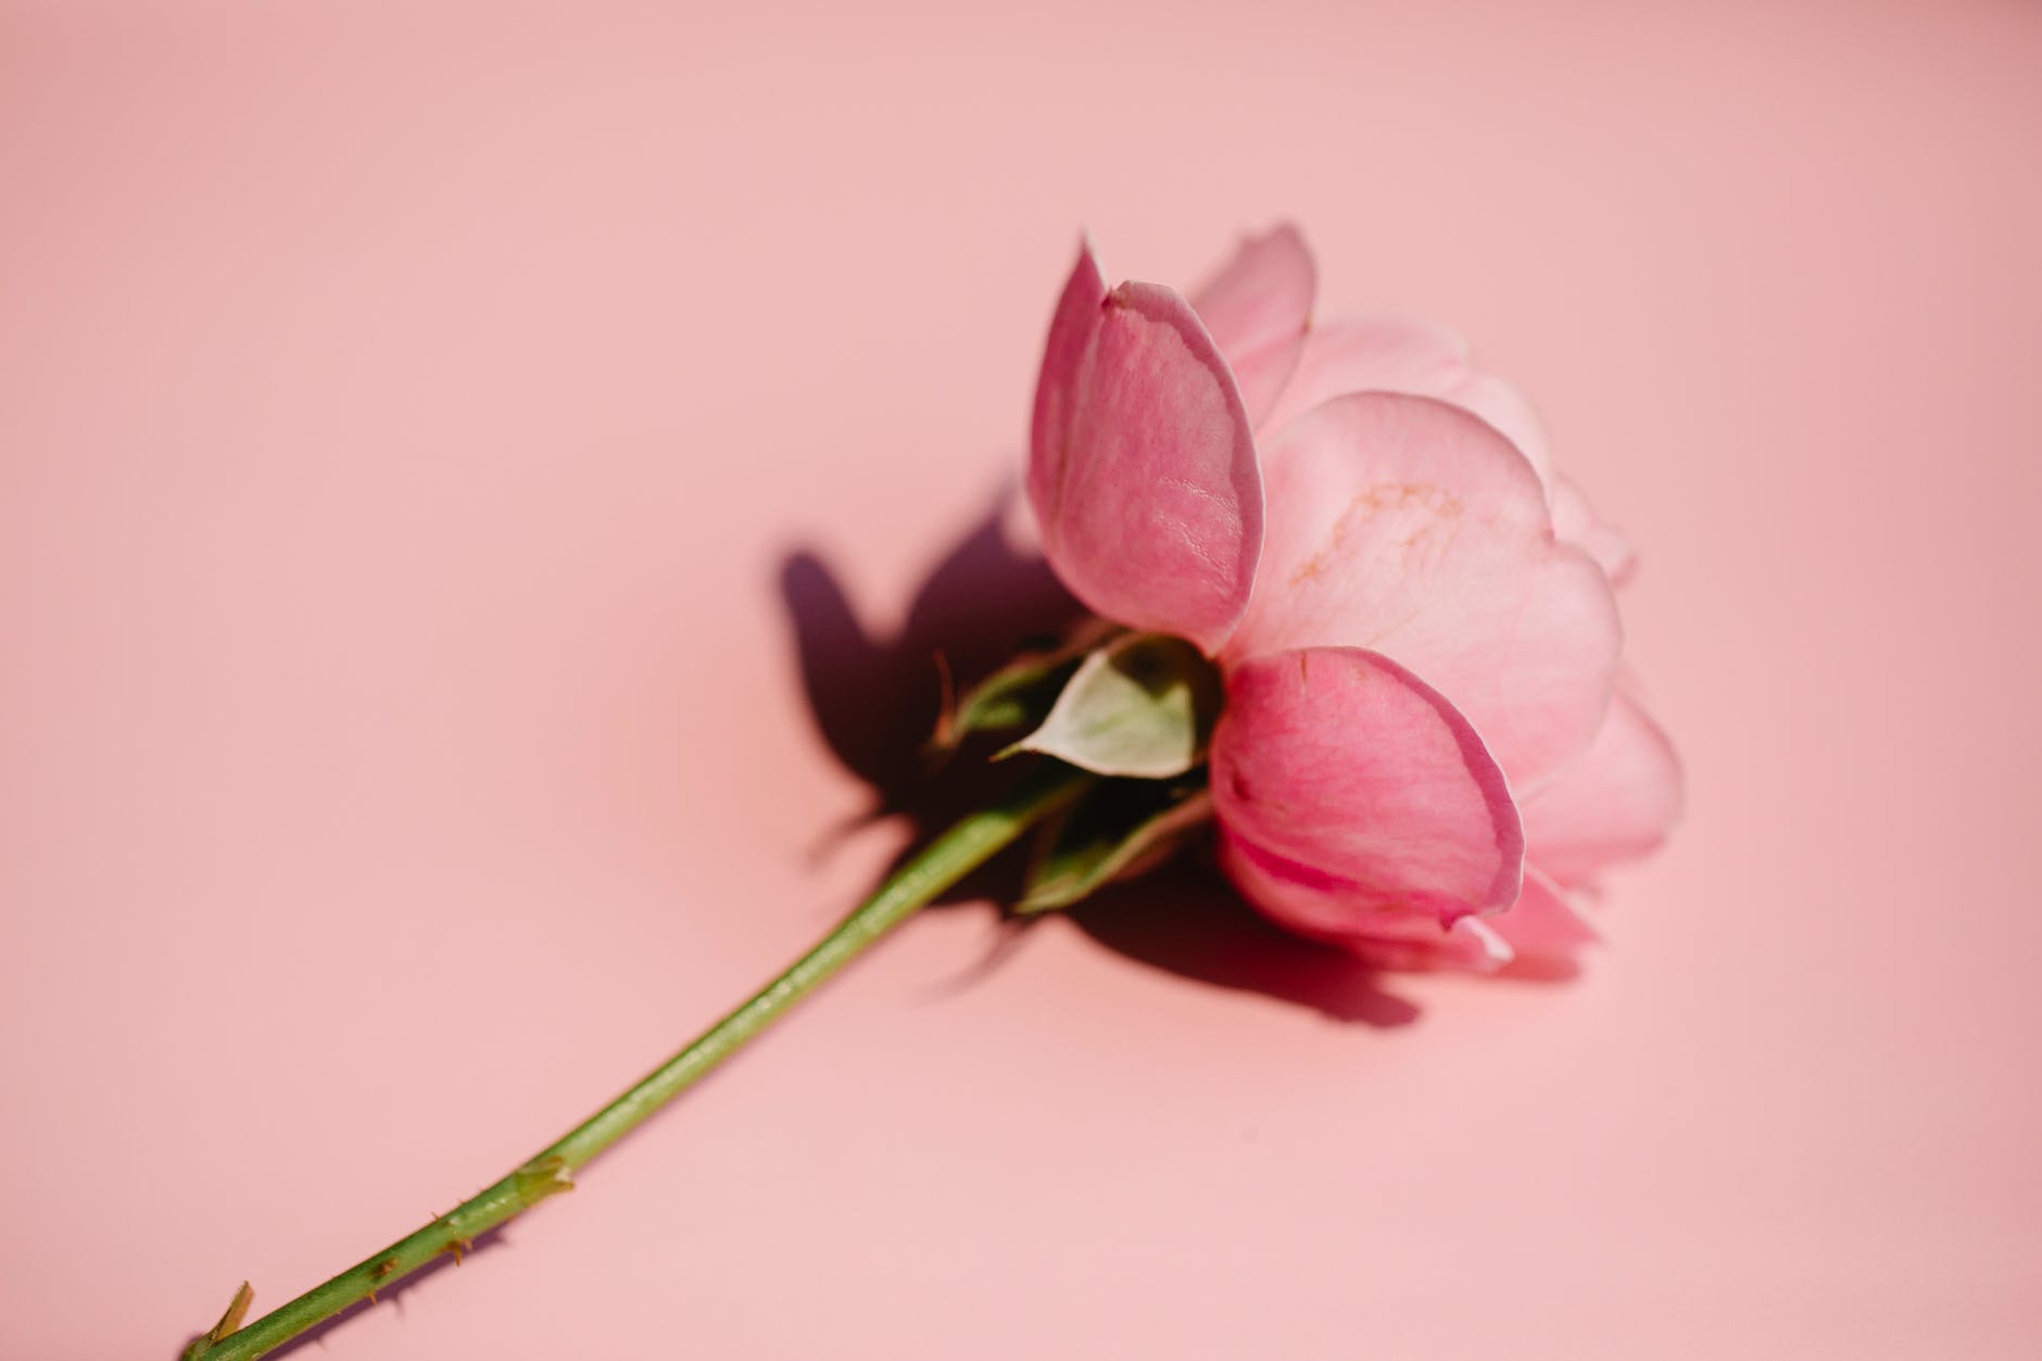
[[[1681,817],[1681,758],[1619,691],[1595,744],[1525,799],[1523,815],[1540,871],[1562,885],[1589,883],[1603,866],[1636,860],[1666,840]]]

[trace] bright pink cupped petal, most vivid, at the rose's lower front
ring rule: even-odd
[[[1291,930],[1438,938],[1517,897],[1523,830],[1503,770],[1387,656],[1311,648],[1233,666],[1211,762],[1227,873]]]

